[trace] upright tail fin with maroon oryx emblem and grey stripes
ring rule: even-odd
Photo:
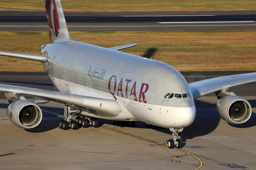
[[[51,43],[73,41],[69,36],[69,30],[62,10],[60,0],[44,0],[49,37]]]

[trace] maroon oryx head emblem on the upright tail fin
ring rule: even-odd
[[[60,21],[55,0],[46,0],[45,9],[47,15],[50,41],[52,41],[52,31],[55,32],[55,37],[58,37],[60,31]]]

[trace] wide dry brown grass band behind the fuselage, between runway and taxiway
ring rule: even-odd
[[[122,51],[142,56],[154,49],[152,59],[178,71],[256,70],[256,30],[70,31],[70,35],[76,41],[102,47],[138,43]],[[48,32],[0,31],[1,51],[38,55],[40,44],[47,43]],[[39,62],[11,57],[1,56],[0,66],[0,71],[44,72]]]

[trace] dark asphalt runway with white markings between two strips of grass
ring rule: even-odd
[[[71,31],[254,30],[256,11],[64,12]],[[47,31],[45,11],[0,8],[0,30]]]

